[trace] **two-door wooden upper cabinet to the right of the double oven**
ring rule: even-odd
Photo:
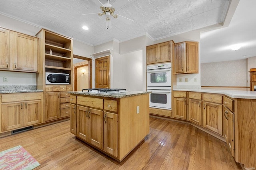
[[[175,44],[175,74],[198,73],[198,43]]]

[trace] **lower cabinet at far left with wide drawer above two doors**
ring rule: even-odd
[[[42,123],[40,92],[3,94],[1,106],[2,132]]]

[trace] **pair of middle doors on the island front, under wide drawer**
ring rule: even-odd
[[[78,106],[78,136],[103,149],[103,111]]]

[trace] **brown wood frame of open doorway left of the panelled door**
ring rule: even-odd
[[[79,55],[74,55],[74,54],[73,54],[73,58],[88,61],[88,64],[85,64],[85,65],[82,65],[82,66],[88,65],[88,80],[89,80],[89,84],[88,84],[89,86],[88,87],[92,88],[92,59],[87,58],[87,57],[82,57],[82,56],[79,56]],[[82,67],[82,66],[74,67],[74,91],[77,91],[77,68]]]

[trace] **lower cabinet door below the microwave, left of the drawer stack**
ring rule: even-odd
[[[45,93],[45,121],[60,118],[60,92]]]

